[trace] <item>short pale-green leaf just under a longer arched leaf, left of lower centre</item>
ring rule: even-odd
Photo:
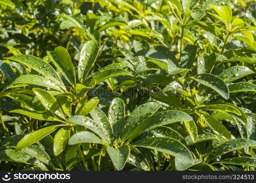
[[[74,145],[77,143],[100,143],[105,145],[105,143],[100,138],[98,138],[95,134],[89,131],[80,131],[73,134],[69,138],[69,145]]]

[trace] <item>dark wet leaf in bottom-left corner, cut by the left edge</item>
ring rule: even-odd
[[[37,160],[36,158],[33,158],[32,156],[29,156],[28,154],[24,154],[24,152],[15,152],[14,149],[0,150],[0,160],[30,164],[36,167],[40,167],[43,170],[47,170],[47,168],[41,161]]]

